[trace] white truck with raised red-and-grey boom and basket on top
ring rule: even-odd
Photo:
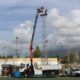
[[[36,30],[38,16],[42,16],[42,17],[47,16],[47,9],[45,9],[44,7],[37,9],[34,26],[33,26],[32,38],[31,38],[31,42],[30,42],[30,63],[31,63],[32,71],[33,71],[34,75],[42,74],[43,76],[51,77],[51,76],[55,76],[55,75],[59,74],[59,70],[61,70],[60,63],[37,65],[37,67],[40,67],[40,68],[36,68],[35,65],[33,64],[33,40],[34,40],[34,36],[35,36],[35,30]],[[43,46],[45,46],[45,45],[43,45]],[[46,60],[44,60],[44,61],[46,62]]]

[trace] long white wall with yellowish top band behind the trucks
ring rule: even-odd
[[[38,65],[41,65],[42,62],[45,62],[44,58],[33,59],[33,64],[37,63]],[[0,75],[2,71],[2,64],[20,65],[21,63],[30,64],[30,58],[0,59]],[[48,58],[48,64],[58,64],[57,58]]]

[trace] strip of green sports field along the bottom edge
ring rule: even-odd
[[[80,80],[80,77],[57,77],[57,78],[10,78],[10,77],[1,77],[0,80]]]

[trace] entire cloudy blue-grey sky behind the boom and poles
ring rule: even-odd
[[[0,54],[28,54],[36,9],[48,9],[48,48],[80,46],[80,0],[0,0]],[[38,19],[34,46],[42,46],[42,19]],[[4,48],[5,47],[5,48]]]

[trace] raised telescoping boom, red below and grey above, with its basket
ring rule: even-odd
[[[47,12],[47,9],[44,9],[44,7],[37,9],[37,13],[36,13],[35,21],[34,21],[34,26],[33,26],[33,33],[32,33],[31,42],[30,42],[30,62],[31,62],[31,64],[33,64],[33,40],[34,40],[38,15],[40,15],[40,16],[47,15],[46,12]]]

